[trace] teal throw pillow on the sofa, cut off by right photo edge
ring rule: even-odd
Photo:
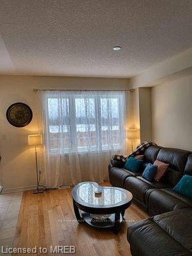
[[[173,190],[183,196],[192,198],[192,176],[183,175]]]

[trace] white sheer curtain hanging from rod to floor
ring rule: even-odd
[[[42,91],[49,187],[108,179],[111,155],[125,152],[126,93]]]

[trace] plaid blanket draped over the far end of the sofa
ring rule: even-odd
[[[127,158],[129,157],[135,157],[137,155],[142,155],[143,151],[149,147],[149,146],[152,146],[152,145],[157,145],[156,143],[153,143],[153,142],[148,142],[148,141],[143,141],[141,142],[135,149],[135,151],[129,155],[129,156],[123,156],[123,155],[113,155],[112,158],[113,159],[117,159],[117,160],[120,160],[122,162],[126,162]]]

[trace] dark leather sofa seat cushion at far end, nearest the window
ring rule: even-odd
[[[123,187],[124,180],[127,177],[136,175],[140,175],[140,173],[132,173],[123,168],[109,167],[110,183],[115,187]]]

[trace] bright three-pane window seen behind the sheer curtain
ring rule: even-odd
[[[45,93],[50,153],[111,151],[125,142],[125,93]]]

